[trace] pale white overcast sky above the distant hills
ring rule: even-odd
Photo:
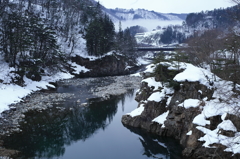
[[[161,13],[200,12],[235,5],[231,0],[99,0],[99,2],[106,8],[143,8]]]

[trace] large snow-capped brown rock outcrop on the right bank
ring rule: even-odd
[[[173,78],[180,88],[171,93],[163,93],[161,77],[147,76],[136,96],[144,109],[137,116],[124,115],[122,123],[179,139],[186,157],[239,158],[240,102],[233,98],[232,83],[216,76],[214,81],[211,72],[191,64],[180,68]]]

